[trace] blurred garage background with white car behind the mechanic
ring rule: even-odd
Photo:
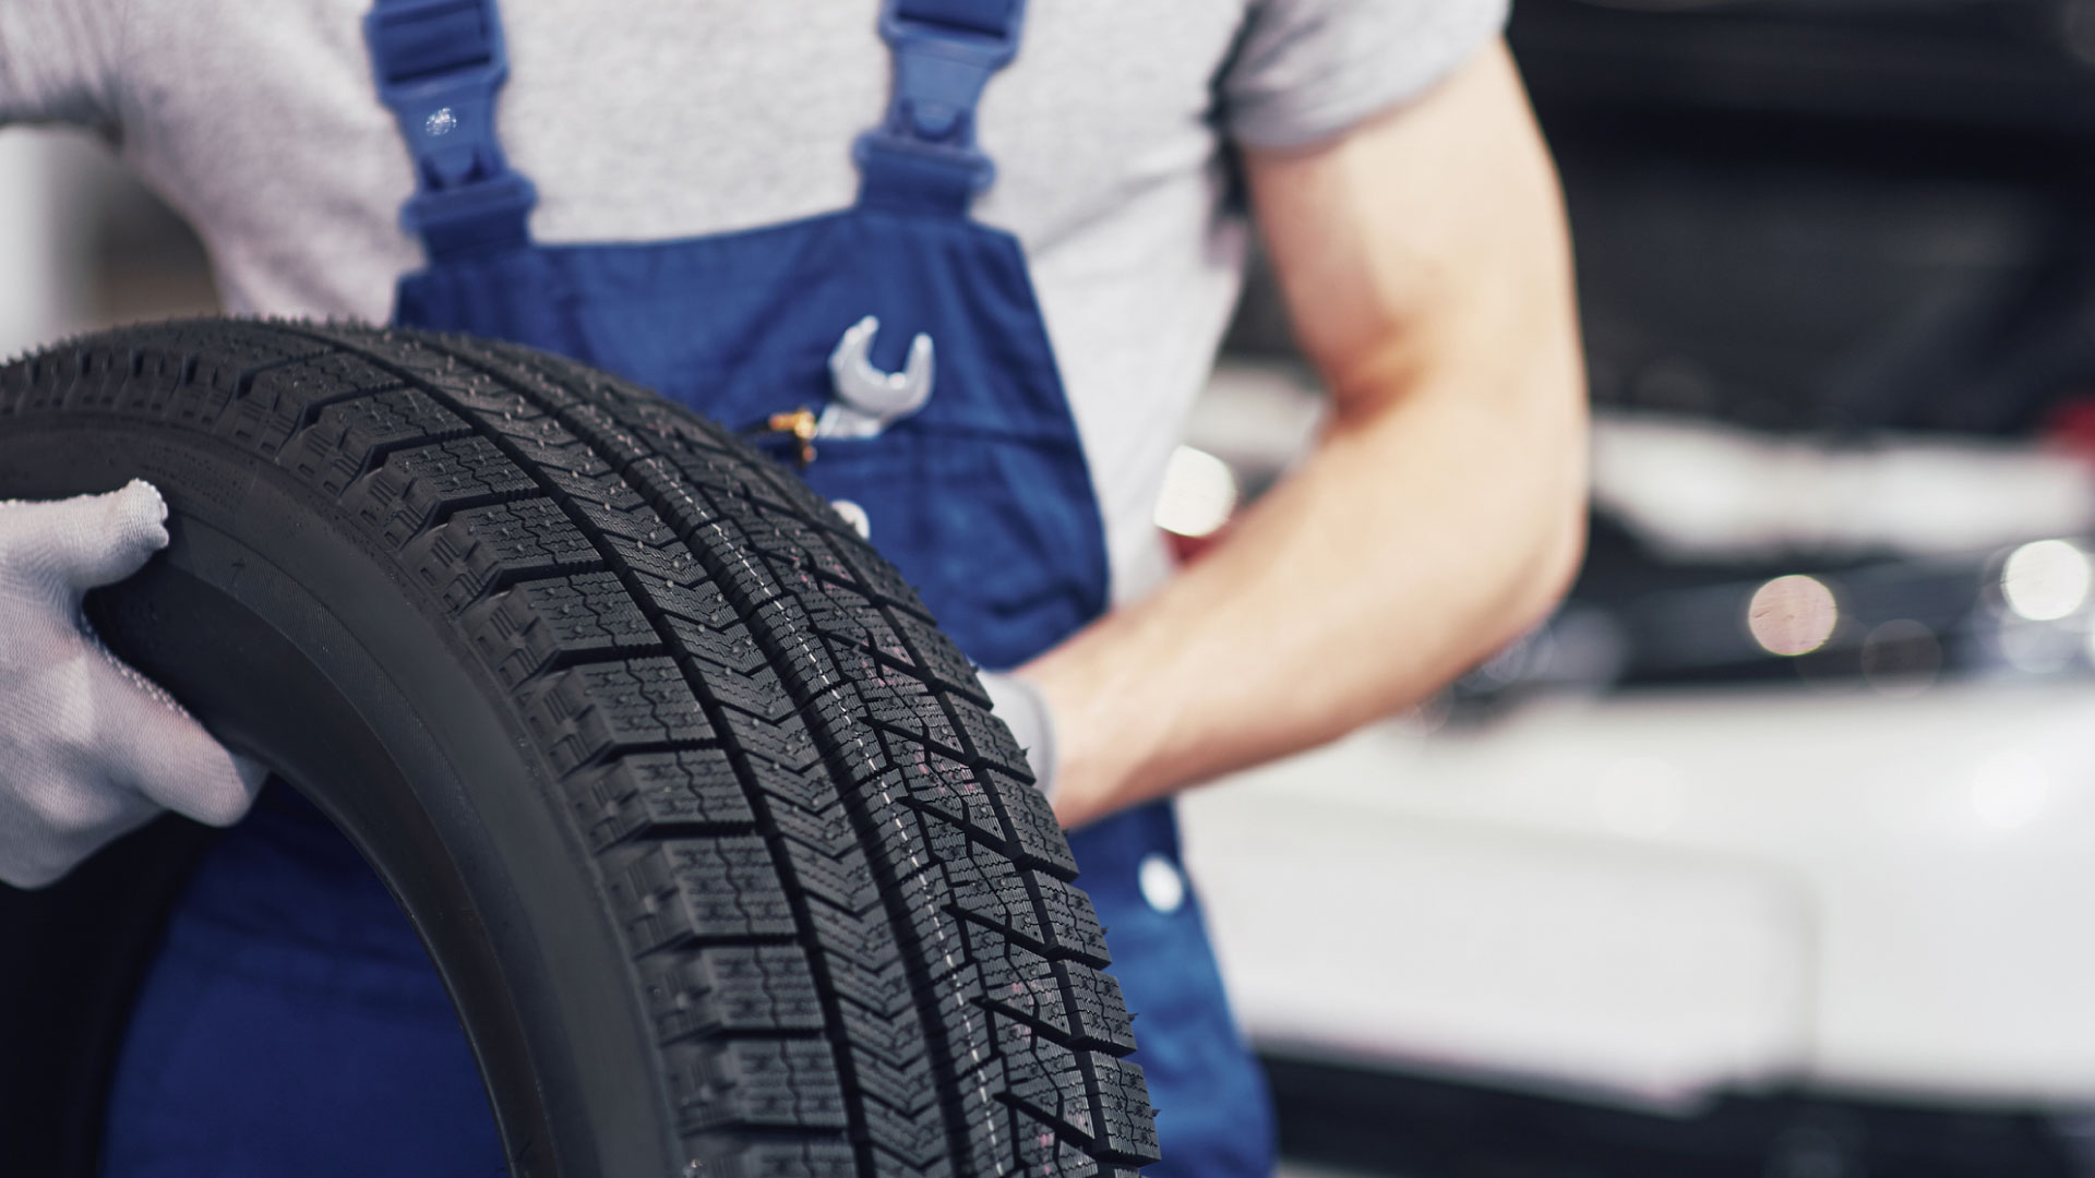
[[[2095,0],[1510,40],[1592,553],[1441,698],[1184,805],[1293,1172],[2095,1176]],[[6,352],[216,306],[75,136],[0,136],[0,258]],[[1318,411],[1255,275],[1159,503],[1186,560]]]

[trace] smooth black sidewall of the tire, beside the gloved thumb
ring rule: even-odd
[[[436,595],[344,526],[337,503],[218,438],[78,411],[0,430],[0,497],[130,478],[168,499],[172,539],[101,593],[105,637],[377,868],[461,1012],[513,1172],[677,1172],[660,1061],[591,851]],[[138,658],[147,635],[128,629],[151,629],[161,654]],[[186,643],[170,639],[180,629]],[[168,656],[184,648],[222,656]],[[302,692],[333,692],[335,706]],[[318,723],[281,723],[300,702]]]

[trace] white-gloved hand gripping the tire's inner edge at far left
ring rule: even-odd
[[[54,503],[0,501],[0,880],[42,887],[163,807],[239,822],[264,769],[111,654],[88,589],[168,545],[149,482]]]

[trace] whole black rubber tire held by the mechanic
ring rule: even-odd
[[[409,331],[174,323],[0,369],[0,497],[132,476],[174,543],[98,627],[371,857],[515,1174],[1156,1157],[1022,755],[777,463],[578,365]]]

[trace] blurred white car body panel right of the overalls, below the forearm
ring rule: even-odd
[[[2095,1098],[2095,685],[1561,698],[1182,813],[1267,1042],[1642,1103]]]

